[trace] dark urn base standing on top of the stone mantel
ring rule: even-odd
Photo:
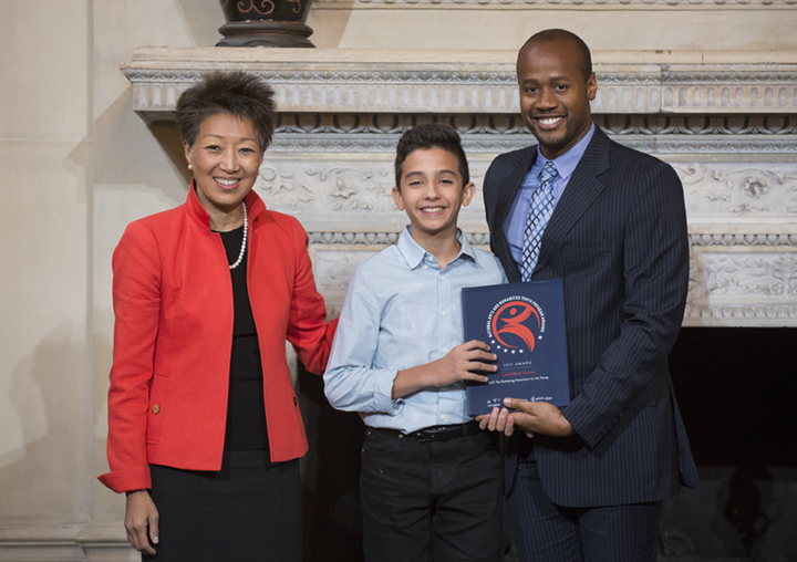
[[[219,0],[227,23],[216,46],[315,46],[304,24],[312,0]]]

